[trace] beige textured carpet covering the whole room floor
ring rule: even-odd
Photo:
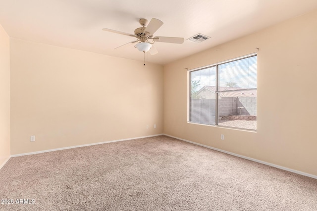
[[[317,179],[156,136],[11,158],[0,198],[1,211],[317,211]]]

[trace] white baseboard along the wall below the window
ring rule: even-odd
[[[186,141],[186,142],[189,142],[189,143],[192,143],[192,144],[196,144],[196,145],[199,145],[199,146],[202,146],[202,147],[206,147],[206,148],[209,148],[209,149],[213,149],[213,150],[216,150],[216,151],[219,151],[219,152],[223,152],[223,153],[226,153],[226,154],[229,154],[229,155],[233,155],[233,156],[236,156],[236,157],[244,158],[244,159],[247,159],[247,160],[250,160],[250,161],[254,161],[254,162],[257,162],[257,163],[260,163],[260,164],[264,164],[264,165],[267,165],[267,166],[275,167],[277,169],[283,169],[283,170],[287,170],[287,171],[290,171],[290,172],[293,172],[293,173],[297,173],[297,174],[301,174],[301,175],[304,175],[304,176],[308,176],[308,177],[312,177],[312,178],[317,179],[317,175],[314,175],[314,174],[310,174],[310,173],[306,173],[306,172],[303,172],[303,171],[289,169],[289,168],[286,168],[286,167],[282,167],[282,166],[278,166],[278,165],[275,165],[275,164],[267,163],[267,162],[264,162],[264,161],[261,161],[261,160],[257,160],[257,159],[254,159],[254,158],[249,158],[249,157],[246,157],[246,156],[243,156],[243,155],[235,154],[235,153],[228,152],[228,151],[225,151],[225,150],[222,150],[222,149],[218,149],[218,148],[214,148],[214,147],[207,146],[207,145],[204,145],[204,144],[196,143],[196,142],[189,141],[189,140],[186,140],[186,139],[183,139],[183,138],[178,138],[178,137],[175,137],[175,136],[172,136],[172,135],[167,135],[167,134],[163,134],[163,135],[166,135],[166,136],[169,136],[169,137],[172,137],[172,138],[176,138],[178,140]]]

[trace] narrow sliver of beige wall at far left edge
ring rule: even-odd
[[[10,46],[0,25],[0,167],[10,157]]]

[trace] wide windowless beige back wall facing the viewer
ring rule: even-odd
[[[10,56],[12,155],[163,131],[160,65],[12,38]]]

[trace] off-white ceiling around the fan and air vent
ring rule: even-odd
[[[0,0],[0,24],[12,38],[143,61],[133,37],[139,18],[164,24],[155,36],[182,37],[183,44],[156,42],[148,61],[166,64],[317,8],[317,0]],[[295,29],[294,29],[295,30]],[[187,39],[202,33],[211,39]]]

